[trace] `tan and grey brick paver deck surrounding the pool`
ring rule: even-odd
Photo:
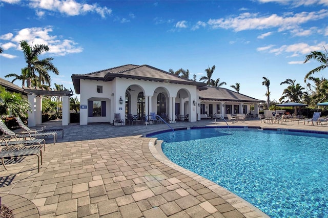
[[[60,121],[44,123],[58,127]],[[201,120],[173,128],[226,125]],[[259,120],[229,125],[328,131],[303,122]],[[61,126],[60,126],[61,127]],[[47,139],[40,172],[33,158],[0,165],[1,203],[14,217],[263,217],[253,206],[220,186],[163,159],[155,140],[143,138],[166,124],[62,126],[54,145]]]

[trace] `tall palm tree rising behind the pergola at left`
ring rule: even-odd
[[[31,48],[25,40],[20,41],[20,47],[23,50],[27,63],[27,85],[31,85],[31,80],[38,80],[42,84],[50,85],[51,79],[48,72],[52,71],[56,75],[59,74],[57,68],[51,62],[53,58],[38,59],[40,54],[50,50],[49,47],[46,45],[35,45]],[[36,73],[39,74],[38,78]]]

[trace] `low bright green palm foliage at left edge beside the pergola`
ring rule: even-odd
[[[31,111],[31,106],[27,99],[19,93],[8,92],[0,85],[0,115],[27,117],[28,111]]]

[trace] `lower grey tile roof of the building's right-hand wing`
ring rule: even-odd
[[[226,88],[202,86],[199,91],[200,100],[239,101],[239,102],[265,102],[247,95],[243,95]]]

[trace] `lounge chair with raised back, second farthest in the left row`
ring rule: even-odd
[[[49,136],[53,136],[53,143],[56,144],[56,140],[57,140],[57,133],[56,132],[47,132],[47,133],[27,133],[27,134],[16,134],[14,132],[12,132],[12,130],[10,130],[6,124],[0,119],[0,130],[7,135],[7,138],[10,139],[15,139],[17,141],[18,138],[23,138],[24,140],[26,140],[26,138],[35,138],[35,137],[49,137]]]

